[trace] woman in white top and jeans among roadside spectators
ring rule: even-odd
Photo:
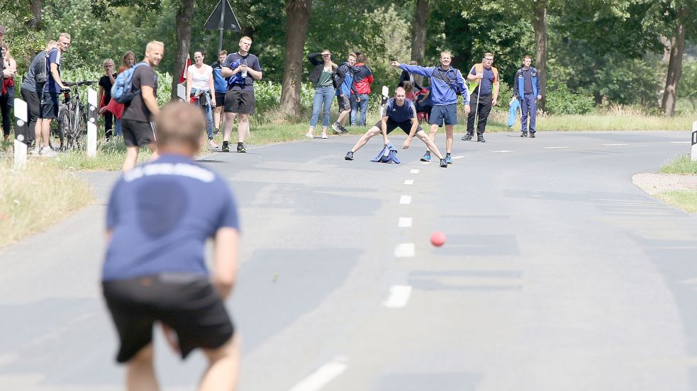
[[[194,52],[194,64],[186,71],[186,96],[191,98],[191,103],[196,103],[203,108],[206,114],[206,130],[208,132],[208,144],[211,148],[217,148],[213,142],[213,108],[216,107],[216,94],[213,86],[213,68],[203,64],[203,50]]]

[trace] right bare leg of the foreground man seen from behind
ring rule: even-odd
[[[237,334],[217,349],[203,349],[208,369],[203,373],[199,391],[235,390],[240,366],[240,347]]]

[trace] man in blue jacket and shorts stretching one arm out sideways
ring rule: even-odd
[[[428,136],[431,141],[435,141],[435,133],[438,128],[445,125],[445,162],[447,164],[452,164],[450,149],[452,149],[452,128],[457,125],[458,95],[462,94],[464,97],[464,113],[465,115],[469,114],[467,84],[464,82],[462,72],[450,67],[450,62],[452,62],[450,52],[445,51],[440,53],[440,67],[420,67],[400,64],[397,61],[391,63],[393,67],[399,67],[403,71],[430,77],[433,109],[431,109],[431,115],[428,118],[428,123],[431,125]],[[431,154],[427,149],[421,161],[429,162],[430,159]]]

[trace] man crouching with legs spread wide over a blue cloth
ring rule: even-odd
[[[438,147],[435,146],[435,143],[428,138],[428,135],[426,135],[418,124],[418,120],[416,119],[416,106],[414,106],[412,101],[406,98],[406,92],[403,87],[397,87],[394,98],[390,98],[387,103],[385,103],[383,113],[385,114],[382,119],[365,132],[349,152],[346,152],[346,156],[344,157],[345,160],[353,160],[353,154],[355,154],[358,149],[361,149],[373,136],[382,134],[382,141],[384,145],[387,145],[389,143],[387,135],[389,135],[392,130],[400,128],[408,136],[402,144],[403,149],[407,149],[409,145],[411,145],[411,139],[416,135],[419,140],[424,142],[428,150],[433,151],[435,156],[440,159],[440,166],[443,168],[447,167],[445,157],[443,157]]]

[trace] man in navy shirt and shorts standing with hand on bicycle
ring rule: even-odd
[[[60,79],[62,54],[67,52],[70,47],[70,34],[61,33],[58,36],[58,48],[50,50],[46,55],[46,84],[43,87],[41,99],[41,134],[36,136],[34,154],[41,153],[45,157],[55,157],[56,153],[49,145],[49,135],[51,132],[51,121],[58,118],[58,95],[61,90],[67,89]],[[40,142],[43,141],[43,148],[39,149]]]

